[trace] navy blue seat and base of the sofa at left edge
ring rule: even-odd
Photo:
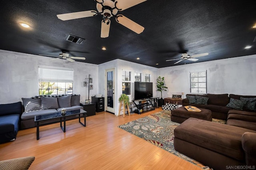
[[[16,139],[19,130],[19,120],[19,114],[0,117],[0,143]]]

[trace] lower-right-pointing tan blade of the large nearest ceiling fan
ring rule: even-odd
[[[140,26],[136,22],[130,20],[129,18],[126,18],[123,15],[118,15],[116,17],[116,22],[118,22],[119,24],[122,24],[126,28],[129,28],[130,30],[136,32],[137,34],[140,34],[144,31],[144,27]]]

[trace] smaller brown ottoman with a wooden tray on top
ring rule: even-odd
[[[202,119],[206,121],[212,121],[212,111],[208,109],[201,109],[201,108],[198,108],[198,109],[200,109],[201,111],[191,112],[191,111],[187,111],[185,107],[179,107],[178,109],[174,109],[171,112],[172,114],[171,121],[182,123],[190,117],[194,117],[194,118]]]

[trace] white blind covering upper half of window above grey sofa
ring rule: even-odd
[[[73,83],[74,70],[39,67],[39,81]]]

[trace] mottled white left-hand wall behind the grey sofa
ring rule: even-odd
[[[92,75],[94,85],[90,96],[98,93],[98,65],[50,59],[0,50],[0,104],[14,103],[22,101],[22,97],[38,95],[38,66],[74,69],[73,93],[80,94],[82,102],[88,99],[88,87],[84,87],[83,82],[89,74]]]

